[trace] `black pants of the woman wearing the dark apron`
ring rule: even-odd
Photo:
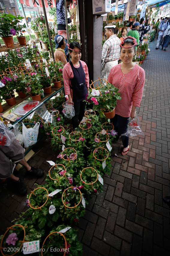
[[[75,116],[72,117],[72,124],[73,128],[77,128],[79,126],[78,120],[81,121],[85,114],[85,101],[80,101],[75,103],[74,102],[74,110],[75,110]]]

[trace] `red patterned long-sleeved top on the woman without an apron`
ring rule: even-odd
[[[139,107],[145,84],[145,70],[135,64],[132,70],[123,74],[121,63],[112,67],[108,82],[119,89],[121,100],[117,100],[115,114],[122,117],[130,117],[132,105]]]

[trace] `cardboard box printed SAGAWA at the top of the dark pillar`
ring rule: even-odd
[[[111,0],[92,0],[93,14],[101,15],[111,12]]]

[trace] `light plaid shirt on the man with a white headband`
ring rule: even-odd
[[[112,35],[109,37],[109,39],[106,40],[102,49],[102,64],[103,62],[109,62],[119,59],[120,43],[121,40],[116,35]]]

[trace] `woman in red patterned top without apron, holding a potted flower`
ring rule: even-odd
[[[115,107],[115,117],[110,119],[115,130],[124,134],[127,130],[129,117],[136,116],[136,107],[140,106],[142,93],[145,84],[145,71],[142,67],[135,64],[132,59],[136,53],[137,41],[134,37],[124,38],[121,46],[122,63],[112,67],[108,81],[119,89],[121,100],[117,101]],[[129,150],[127,136],[121,137],[123,142],[122,155],[126,155]]]

